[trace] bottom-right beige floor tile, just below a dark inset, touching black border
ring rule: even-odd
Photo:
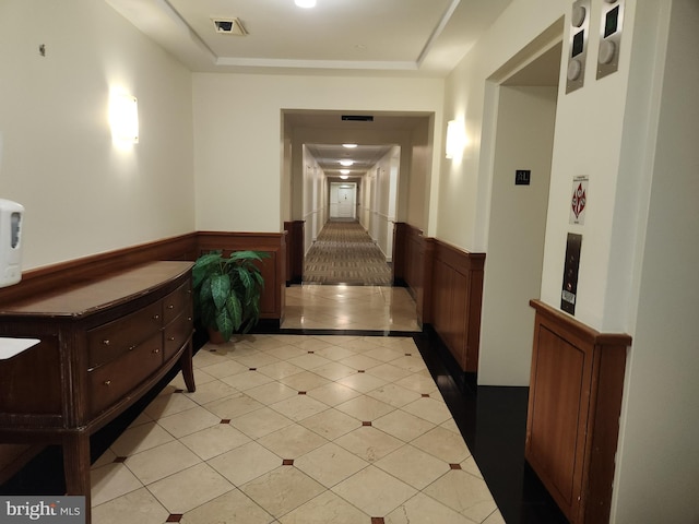
[[[475,522],[483,522],[497,509],[485,481],[463,469],[450,471],[424,493]]]

